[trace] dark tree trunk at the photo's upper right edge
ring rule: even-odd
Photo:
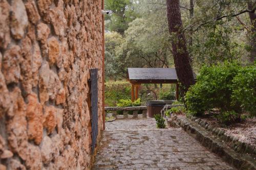
[[[255,3],[252,3],[251,1],[247,3],[248,5],[248,10],[252,10],[254,7],[253,5],[255,5]],[[250,16],[250,20],[251,20],[251,34],[252,36],[250,37],[249,41],[250,41],[250,45],[251,45],[251,55],[250,55],[250,62],[253,63],[255,56],[256,56],[256,41],[255,41],[255,37],[256,37],[256,14],[255,12],[249,12],[249,16]]]

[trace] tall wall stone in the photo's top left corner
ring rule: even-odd
[[[0,2],[0,47],[6,48],[11,42],[10,38],[10,5],[6,0]]]

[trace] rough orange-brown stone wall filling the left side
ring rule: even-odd
[[[90,168],[90,68],[102,130],[101,3],[0,0],[0,170]]]

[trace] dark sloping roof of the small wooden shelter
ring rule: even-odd
[[[131,83],[177,83],[175,68],[128,68]]]

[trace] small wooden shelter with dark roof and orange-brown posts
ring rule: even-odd
[[[128,81],[132,84],[133,102],[138,99],[141,84],[176,84],[176,99],[179,99],[179,84],[175,68],[128,68]]]

